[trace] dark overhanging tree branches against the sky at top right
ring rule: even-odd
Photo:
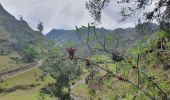
[[[89,0],[86,2],[86,8],[89,13],[94,18],[95,21],[101,21],[102,10],[109,4],[111,0]],[[115,0],[119,4],[125,4],[121,10],[121,15],[123,19],[127,19],[129,16],[134,15],[137,11],[144,11],[147,6],[152,4],[156,5],[155,8],[147,13],[144,13],[146,19],[158,19],[161,22],[170,22],[170,0]],[[129,5],[128,5],[129,4]],[[131,6],[130,4],[135,4]],[[162,8],[165,7],[166,10],[162,12]]]

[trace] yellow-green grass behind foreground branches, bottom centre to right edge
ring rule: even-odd
[[[102,59],[100,59],[100,58],[102,58]],[[110,58],[102,55],[101,57],[99,57],[99,56],[93,57],[92,60],[94,60],[94,61],[102,60],[102,62],[103,62],[103,61],[109,61]],[[143,60],[143,61],[145,61],[145,60]],[[100,64],[100,65],[102,67],[105,67],[105,64]],[[115,70],[116,63],[113,63],[113,64],[107,63],[107,65],[108,65],[108,69],[110,69],[112,71]],[[154,67],[155,65],[156,65],[156,67]],[[170,77],[170,75],[167,74],[167,73],[169,73],[169,70],[164,70],[163,66],[161,64],[159,64],[158,62],[155,62],[154,64],[151,63],[149,65],[141,64],[140,67],[144,71],[146,71],[148,73],[148,75],[155,76],[155,78],[156,78],[155,81],[159,83],[159,85],[164,89],[164,91],[167,91],[167,93],[168,92],[170,93],[170,89],[167,87],[168,84],[170,83],[170,80],[168,78],[166,78],[166,77]],[[158,73],[159,73],[159,75],[158,75]],[[100,71],[99,76],[102,76],[104,74],[105,74],[105,72]],[[128,75],[128,78],[136,83],[137,82],[136,72],[133,71],[132,73],[130,73]],[[165,82],[162,83],[165,79],[167,80],[166,84],[164,84]],[[111,80],[113,80],[113,81],[111,82],[111,84],[109,83],[110,86],[107,86],[106,84],[104,85],[104,92],[96,91],[96,94],[94,96],[91,96],[89,94],[90,89],[88,88],[88,85],[86,85],[85,83],[82,83],[82,84],[78,85],[76,88],[73,88],[72,94],[77,96],[77,97],[83,98],[83,100],[84,99],[88,100],[88,99],[90,99],[90,97],[93,100],[99,100],[99,99],[101,99],[101,100],[117,100],[117,99],[114,99],[115,97],[118,97],[119,99],[124,99],[124,97],[126,97],[125,100],[131,100],[132,99],[133,94],[135,94],[135,90],[134,90],[134,87],[132,85],[127,84],[125,82],[122,82],[122,81],[120,81],[116,78],[113,78]],[[145,89],[145,87],[143,87],[143,89]],[[131,93],[131,95],[129,95],[130,93]],[[143,93],[141,92],[140,94],[142,95]],[[129,97],[129,99],[127,99],[127,97]],[[138,96],[137,100],[141,100],[141,96]],[[149,100],[149,98],[147,98],[147,100]]]

